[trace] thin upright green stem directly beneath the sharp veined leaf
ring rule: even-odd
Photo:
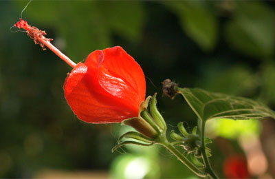
[[[201,119],[199,119],[201,120]],[[207,175],[210,177],[210,178],[219,178],[216,173],[214,173],[211,165],[210,165],[210,162],[208,160],[208,157],[206,155],[206,144],[204,143],[204,128],[205,128],[205,125],[206,125],[206,120],[202,120],[201,122],[201,156],[203,158],[203,163],[205,165],[205,169],[206,169],[206,173]]]

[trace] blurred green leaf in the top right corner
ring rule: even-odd
[[[232,3],[232,21],[225,25],[228,43],[232,48],[256,56],[269,58],[274,54],[275,14],[272,8],[260,1]]]

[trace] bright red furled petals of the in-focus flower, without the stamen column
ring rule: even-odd
[[[138,116],[145,98],[142,68],[121,47],[91,52],[63,86],[74,114],[87,123],[120,123]]]

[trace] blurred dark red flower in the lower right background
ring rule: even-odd
[[[223,162],[223,173],[226,178],[249,178],[248,166],[243,156],[232,156]]]

